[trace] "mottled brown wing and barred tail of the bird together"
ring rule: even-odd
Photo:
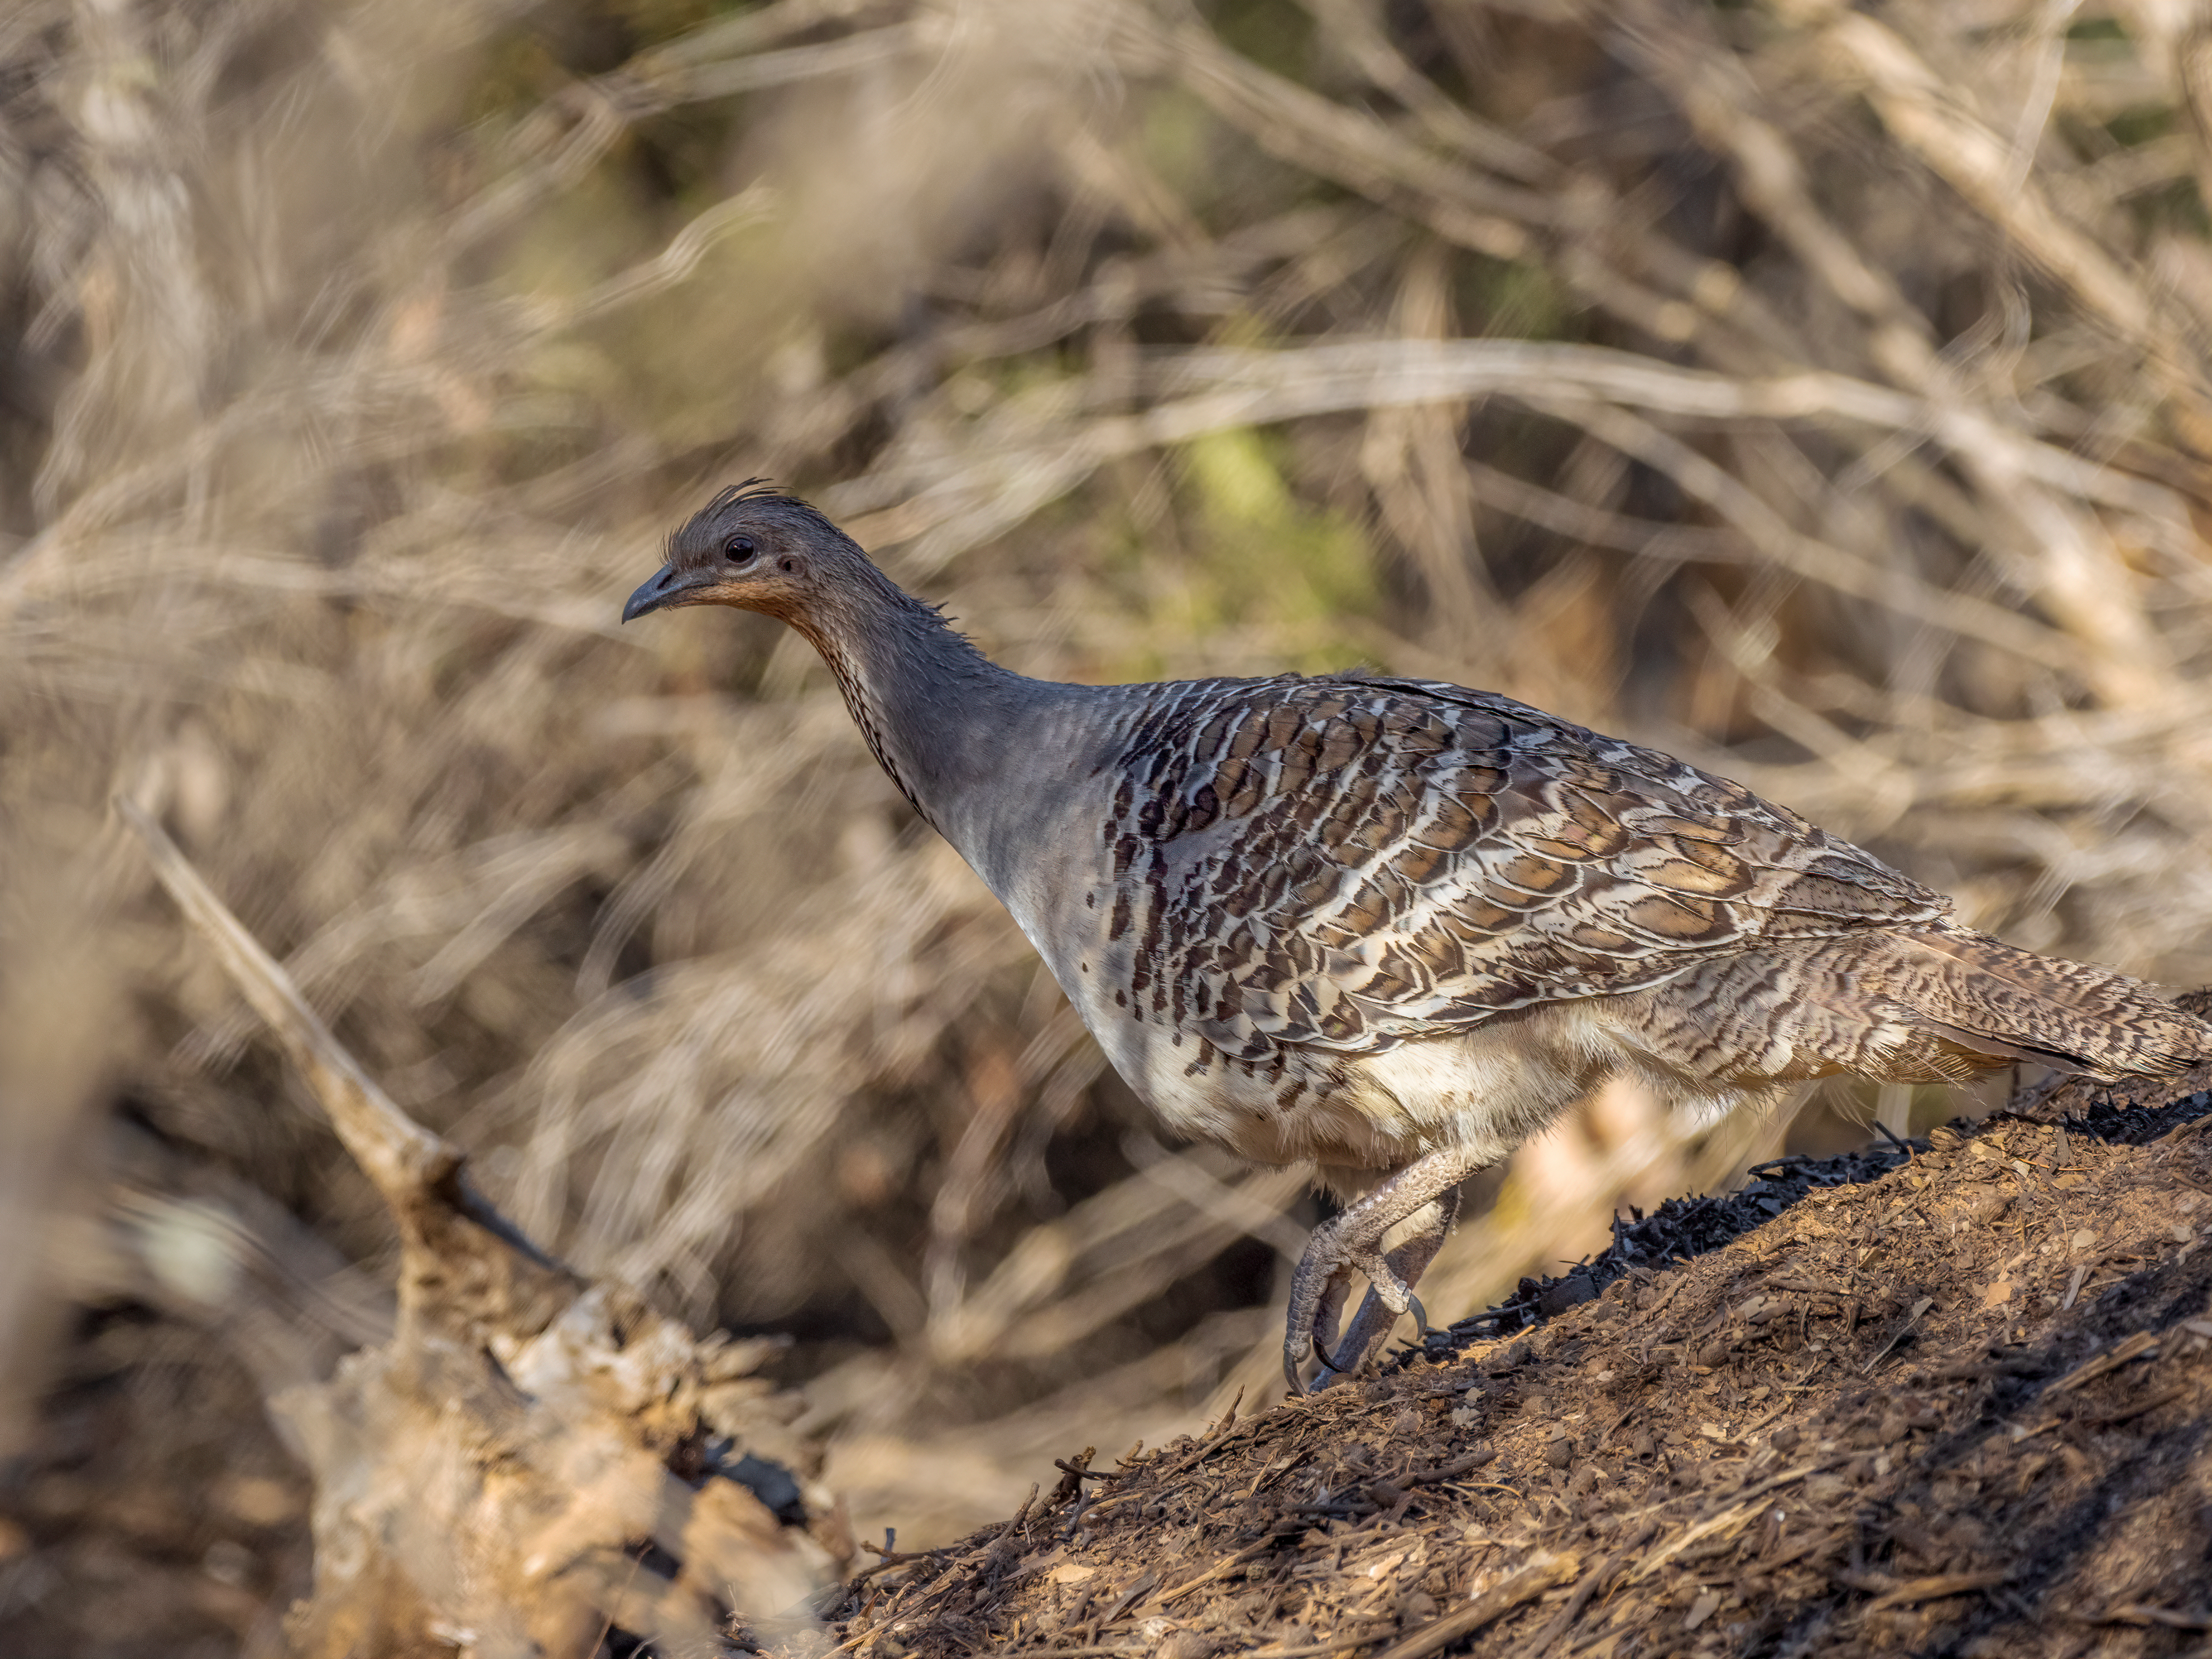
[[[1380,677],[1146,690],[1108,940],[1133,940],[1135,1018],[1232,1057],[1661,987],[1679,995],[1639,1004],[1655,1048],[1717,1079],[1929,1082],[2022,1055],[2121,1075],[2183,1064],[2201,1033],[2104,969],[1958,927],[1942,894],[1743,785],[1506,697]],[[1743,1018],[1714,1020],[1723,991]],[[1681,993],[1694,1033],[1666,1018]]]

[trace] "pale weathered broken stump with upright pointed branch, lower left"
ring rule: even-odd
[[[117,812],[268,1022],[400,1230],[392,1340],[268,1398],[316,1484],[303,1659],[451,1644],[664,1652],[814,1628],[852,1555],[814,1458],[750,1371],[772,1343],[695,1338],[549,1259],[403,1113],[135,803]],[[655,1559],[659,1551],[664,1559]]]

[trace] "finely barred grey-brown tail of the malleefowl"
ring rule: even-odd
[[[1966,1055],[2037,1060],[2112,1082],[2212,1057],[2212,1026],[2126,973],[1936,925],[1885,936],[1882,991]]]

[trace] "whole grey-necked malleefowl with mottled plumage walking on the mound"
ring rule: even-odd
[[[1960,927],[1794,812],[1506,697],[1022,679],[814,509],[750,489],[677,533],[624,617],[670,604],[816,644],[876,759],[1175,1130],[1365,1190],[1292,1281],[1294,1389],[1310,1352],[1340,1371],[1383,1343],[1467,1175],[1608,1077],[1710,1115],[1840,1071],[2212,1053],[2137,980]],[[1354,1270],[1374,1290],[1338,1347]]]

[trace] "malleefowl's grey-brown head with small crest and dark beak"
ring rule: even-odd
[[[748,478],[668,538],[668,562],[630,595],[622,619],[684,604],[730,604],[796,622],[847,562],[852,540],[803,500]]]

